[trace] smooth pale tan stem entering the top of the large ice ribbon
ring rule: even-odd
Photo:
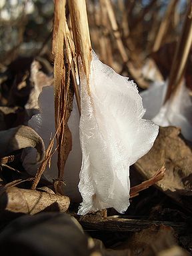
[[[83,71],[79,65],[79,72],[84,72],[87,77],[87,92],[90,95],[89,75],[91,65],[91,39],[87,20],[87,9],[85,0],[69,0],[69,13],[75,42],[77,57],[81,57]]]

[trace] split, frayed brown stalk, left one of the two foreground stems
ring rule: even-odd
[[[73,62],[75,52],[69,28],[67,27],[65,3],[66,1],[64,0],[55,1],[52,48],[54,57],[55,129],[57,131],[58,152],[58,179],[55,181],[57,183],[55,190],[61,194],[63,194],[65,162],[72,147],[71,131],[67,125],[73,108],[71,83],[75,87],[75,63]],[[72,81],[71,78],[73,78]],[[78,93],[77,90],[76,93]]]

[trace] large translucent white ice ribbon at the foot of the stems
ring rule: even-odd
[[[95,53],[91,61],[89,88],[90,95],[84,77],[81,80],[79,123],[82,163],[78,173],[78,187],[83,201],[78,213],[85,215],[109,207],[124,213],[129,207],[129,166],[151,149],[159,126],[142,118],[145,109],[135,83],[101,63]],[[74,113],[71,118],[74,118]],[[69,123],[73,136],[75,126],[70,120]],[[39,127],[43,137],[43,127]],[[73,177],[71,165],[75,161],[73,156],[76,154],[77,157],[77,151],[73,153],[75,144],[77,141],[73,137],[73,149],[65,166],[68,177]],[[70,187],[70,181],[65,179],[65,182]]]

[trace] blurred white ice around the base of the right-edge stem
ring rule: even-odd
[[[174,97],[163,105],[166,91],[167,81],[152,83],[149,89],[141,93],[143,105],[147,109],[144,117],[162,127],[180,127],[185,139],[192,141],[192,101],[189,89],[183,82]]]

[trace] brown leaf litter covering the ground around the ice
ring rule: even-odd
[[[39,113],[37,99],[42,88],[53,83],[53,68],[49,65],[49,71],[43,70],[42,57],[41,63],[38,59],[28,60],[20,78],[14,81],[8,75],[7,83],[5,78],[3,80],[5,94],[2,91],[3,121],[0,132],[1,252],[9,253],[10,250],[11,253],[19,248],[22,255],[23,248],[28,253],[32,246],[35,255],[40,252],[41,255],[53,255],[55,251],[57,255],[60,255],[59,251],[61,255],[67,255],[67,250],[69,255],[73,255],[72,247],[76,245],[78,255],[189,255],[191,143],[183,138],[179,127],[160,127],[151,150],[131,165],[132,188],[150,180],[162,166],[165,166],[165,173],[157,183],[149,182],[143,191],[138,189],[125,214],[108,209],[107,217],[103,217],[103,211],[79,217],[77,203],[58,194],[53,181],[47,181],[43,176],[35,189],[31,189],[35,173],[28,173],[23,168],[21,155],[23,149],[34,147],[37,149],[34,150],[34,163],[39,161],[41,165],[46,158],[43,140],[33,128],[27,126],[27,122],[32,115]],[[49,61],[45,58],[43,63]],[[20,59],[22,62],[25,62],[24,59]],[[15,75],[21,71],[19,67],[17,65]],[[9,74],[11,68],[7,66]],[[4,111],[5,107],[7,109]],[[17,120],[14,123],[12,114]],[[56,155],[54,149],[51,149],[51,153]],[[51,243],[43,241],[39,236],[41,233],[47,235]],[[60,238],[55,239],[58,234]],[[43,247],[40,247],[39,241]],[[69,244],[71,247],[67,246]],[[74,255],[77,255],[77,251]]]

